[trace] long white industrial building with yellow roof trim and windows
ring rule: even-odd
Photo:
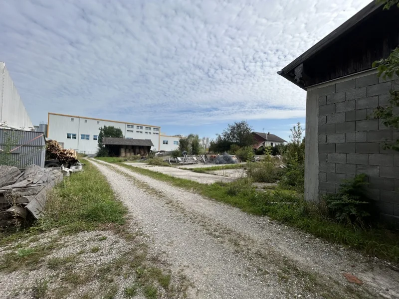
[[[151,150],[160,150],[161,127],[159,126],[58,113],[48,113],[47,137],[63,143],[65,149],[91,154],[97,151],[99,129],[103,126],[120,128],[128,139],[149,139],[154,144]]]

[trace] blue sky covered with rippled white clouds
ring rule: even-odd
[[[305,92],[276,72],[369,0],[0,0],[0,61],[47,112],[214,137],[288,138]]]

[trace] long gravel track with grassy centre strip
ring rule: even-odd
[[[92,160],[151,250],[193,283],[190,298],[399,298],[399,273],[267,217]],[[343,273],[364,284],[349,284]]]

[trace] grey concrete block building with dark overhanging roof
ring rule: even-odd
[[[398,20],[398,7],[373,1],[279,72],[307,91],[306,200],[365,173],[381,218],[399,221],[399,151],[385,148],[399,131],[373,117],[399,78],[378,77],[372,67],[398,46]]]

